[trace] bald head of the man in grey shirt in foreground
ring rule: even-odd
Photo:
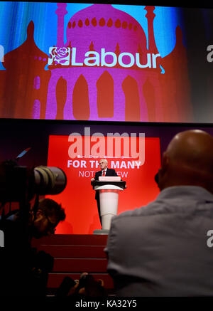
[[[181,184],[213,189],[213,137],[201,130],[175,135],[163,154],[159,184],[160,189]]]

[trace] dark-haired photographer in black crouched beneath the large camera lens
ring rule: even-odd
[[[45,295],[53,258],[31,248],[31,238],[54,233],[55,227],[64,219],[64,209],[52,199],[40,200],[37,209],[28,212],[27,228],[19,210],[1,217],[5,247],[0,250],[0,295]]]

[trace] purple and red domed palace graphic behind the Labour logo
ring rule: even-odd
[[[31,63],[26,64],[31,65],[31,73],[13,73],[13,83],[16,75],[23,75],[13,101],[9,90],[1,96],[9,102],[10,117],[22,113],[22,117],[58,120],[192,120],[182,31],[176,29],[175,48],[161,58],[153,30],[155,7],[146,6],[145,10],[148,38],[136,19],[111,4],[92,4],[74,14],[66,26],[67,4],[60,3],[55,11],[57,43],[50,48],[50,56],[35,46],[31,22],[26,42],[5,56],[8,64],[14,53],[22,58],[25,53],[31,54]],[[33,48],[26,52],[29,44]],[[35,66],[35,62],[40,63]],[[10,70],[7,65],[5,71]],[[23,93],[26,85],[28,95],[21,102],[18,93]],[[2,110],[1,115],[6,117],[8,111]]]

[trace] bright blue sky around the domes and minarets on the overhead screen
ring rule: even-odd
[[[65,28],[70,18],[81,9],[91,4],[67,4]],[[148,38],[148,26],[145,6],[113,5],[125,11],[141,24]],[[35,44],[48,54],[49,47],[57,41],[56,3],[50,2],[0,2],[0,44],[4,52],[18,48],[26,41],[28,23],[34,23]],[[168,55],[175,46],[175,28],[180,25],[179,10],[170,7],[155,7],[154,34],[155,42],[161,57]],[[65,32],[64,32],[65,36]],[[65,38],[66,42],[66,38]]]

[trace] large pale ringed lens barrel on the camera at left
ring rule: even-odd
[[[35,190],[40,195],[60,194],[65,189],[67,178],[58,167],[35,167]]]

